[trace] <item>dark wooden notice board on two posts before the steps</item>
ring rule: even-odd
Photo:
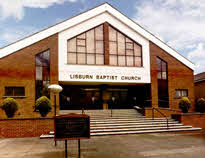
[[[55,140],[90,138],[90,117],[81,114],[60,115],[54,118]]]

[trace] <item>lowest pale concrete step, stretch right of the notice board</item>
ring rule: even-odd
[[[119,131],[119,132],[99,132],[91,133],[91,136],[105,135],[123,135],[123,134],[145,134],[145,133],[161,133],[161,132],[182,132],[182,131],[198,131],[201,128],[185,128],[185,129],[161,129],[161,130],[142,130],[142,131]]]

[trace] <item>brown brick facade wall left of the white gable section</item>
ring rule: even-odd
[[[50,83],[58,83],[58,34],[0,59],[0,104],[5,99],[5,86],[25,87],[25,97],[15,98],[19,103],[15,118],[40,117],[38,112],[34,112],[35,55],[48,49],[50,50]],[[53,95],[51,100],[53,101]],[[53,109],[49,116],[53,116]],[[0,109],[0,118],[6,118],[2,109]]]

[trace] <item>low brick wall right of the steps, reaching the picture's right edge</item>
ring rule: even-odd
[[[173,114],[172,118],[184,125],[201,127],[205,129],[205,113],[182,113]]]

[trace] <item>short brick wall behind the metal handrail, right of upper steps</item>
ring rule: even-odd
[[[165,114],[167,117],[171,117],[172,114],[180,114],[181,111],[180,110],[175,110],[175,109],[169,109],[169,108],[157,108],[160,112],[162,112],[163,114]],[[145,108],[144,110],[144,115],[147,118],[151,118],[152,117],[152,108]],[[154,117],[164,117],[163,115],[161,115],[158,111],[154,110]]]

